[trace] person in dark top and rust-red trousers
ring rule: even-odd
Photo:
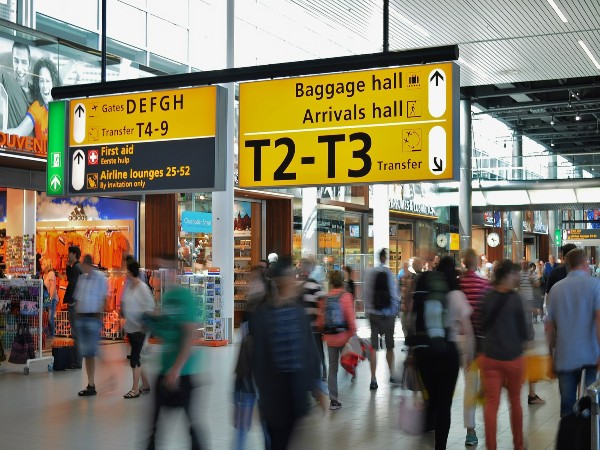
[[[485,444],[489,450],[497,448],[496,420],[503,385],[506,385],[510,402],[513,446],[516,450],[525,448],[521,385],[525,370],[523,345],[527,342],[527,324],[523,300],[515,292],[519,281],[520,267],[506,259],[495,268],[493,289],[483,299],[485,340],[479,366],[485,390]]]

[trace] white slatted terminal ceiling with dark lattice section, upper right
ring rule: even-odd
[[[289,1],[359,40],[381,41],[383,0]],[[390,50],[458,44],[461,93],[474,105],[551,153],[600,153],[600,2],[389,4]]]

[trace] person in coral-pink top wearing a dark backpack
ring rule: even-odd
[[[336,410],[342,407],[342,404],[338,401],[337,390],[340,356],[346,342],[356,334],[356,322],[354,320],[354,297],[344,289],[342,272],[339,270],[331,271],[328,278],[331,290],[327,293],[325,300],[321,302],[321,314],[317,318],[317,325],[323,329],[323,340],[327,343],[329,353],[329,374],[327,378],[329,409]],[[337,305],[334,304],[336,302]],[[335,327],[332,327],[332,324]]]

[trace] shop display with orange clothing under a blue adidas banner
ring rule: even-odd
[[[54,270],[59,294],[57,334],[68,335],[66,314],[60,313],[66,309],[62,300],[67,255],[69,246],[79,246],[109,280],[103,335],[121,337],[118,311],[125,256],[138,254],[138,217],[137,201],[50,198],[35,191],[0,189],[0,268],[9,278],[41,277],[45,270]]]

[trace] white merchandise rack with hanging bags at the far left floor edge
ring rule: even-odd
[[[33,337],[35,357],[25,363],[23,368],[25,375],[29,374],[33,362],[48,362],[49,371],[54,364],[52,356],[42,356],[44,342],[42,285],[42,280],[0,279],[0,330],[5,351],[10,353],[17,324],[25,324]]]

